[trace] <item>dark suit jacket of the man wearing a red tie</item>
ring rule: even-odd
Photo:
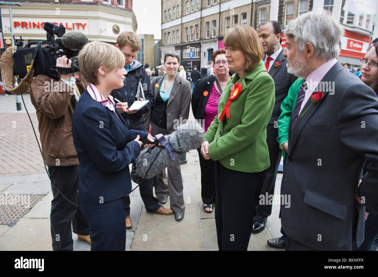
[[[277,68],[275,68],[274,65],[271,66],[268,72],[274,81],[276,100],[274,102],[272,117],[268,126],[266,126],[266,143],[268,144],[269,149],[276,149],[277,151],[279,150],[280,145],[277,142],[278,128],[275,122],[277,122],[281,114],[281,103],[283,99],[287,96],[291,84],[293,84],[298,78],[293,74],[287,73],[287,60],[282,55],[283,51],[284,49],[281,47],[281,51],[274,61],[274,63],[279,61],[281,65]],[[263,60],[265,61],[265,56]]]

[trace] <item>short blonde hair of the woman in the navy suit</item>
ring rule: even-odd
[[[104,65],[106,71],[120,69],[125,65],[125,57],[115,46],[92,41],[85,44],[78,57],[80,73],[85,81],[98,84],[97,70]]]

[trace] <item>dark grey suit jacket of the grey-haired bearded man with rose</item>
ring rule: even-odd
[[[366,158],[372,162],[358,188],[366,209],[378,213],[378,98],[336,63],[324,76],[334,92],[307,101],[291,132],[281,194],[288,237],[317,250],[352,250],[364,239],[364,207],[355,200]],[[332,83],[331,83],[332,84]],[[320,89],[321,90],[321,89]]]

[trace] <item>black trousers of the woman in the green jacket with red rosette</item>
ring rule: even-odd
[[[219,250],[248,248],[253,211],[266,171],[246,173],[215,162],[215,225]]]

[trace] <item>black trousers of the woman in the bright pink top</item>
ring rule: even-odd
[[[198,150],[201,167],[201,197],[204,204],[215,202],[215,161],[212,159],[205,160]]]

